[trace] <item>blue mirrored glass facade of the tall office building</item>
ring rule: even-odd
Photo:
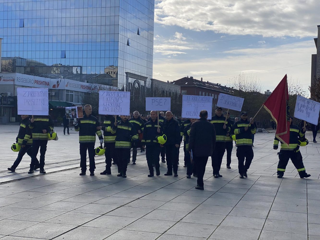
[[[44,76],[73,66],[75,79],[132,95],[150,85],[153,28],[154,0],[0,0],[2,57],[34,60]]]

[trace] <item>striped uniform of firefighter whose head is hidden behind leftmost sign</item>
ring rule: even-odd
[[[29,123],[29,128],[32,132],[32,156],[30,169],[38,164],[37,155],[40,148],[40,170],[44,168],[44,156],[47,151],[48,132],[53,131],[53,121],[50,115],[34,116],[34,122]],[[44,133],[43,130],[46,130]]]

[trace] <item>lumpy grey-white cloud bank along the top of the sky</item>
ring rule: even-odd
[[[318,0],[162,0],[155,6],[155,22],[230,35],[268,35],[316,25],[319,9]],[[316,27],[276,36],[315,35]]]

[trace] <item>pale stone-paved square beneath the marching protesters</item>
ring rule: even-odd
[[[140,152],[126,179],[116,177],[115,165],[112,175],[99,174],[104,156],[96,157],[95,176],[79,176],[78,134],[63,135],[59,127],[59,140],[48,142],[46,174],[28,174],[27,155],[8,172],[18,128],[0,125],[1,239],[320,239],[320,141],[300,148],[310,178],[300,179],[289,162],[278,179],[274,133],[257,133],[248,178],[239,179],[234,147],[231,169],[224,156],[222,178],[213,178],[209,158],[199,191],[196,178],[186,178],[182,148],[177,178],[163,175],[164,163],[159,177],[148,178]]]

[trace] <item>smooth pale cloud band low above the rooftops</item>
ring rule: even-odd
[[[260,78],[266,89],[274,89],[285,74],[299,79],[301,84],[310,84],[311,64],[284,68],[311,61],[311,54],[316,53],[313,40],[295,44],[285,44],[271,48],[248,48],[226,51],[226,57],[207,59],[155,59],[153,69],[160,72],[163,77],[160,80],[176,80],[180,77],[193,74],[196,79],[204,78],[214,83],[227,85],[229,76],[236,76],[241,72],[252,74]],[[283,68],[283,69],[278,69]],[[210,70],[208,70],[210,69]],[[278,69],[267,71],[271,69]],[[265,72],[262,72],[265,71]],[[256,73],[261,72],[261,73]],[[174,77],[165,77],[171,74]],[[231,78],[231,77],[230,77]]]

